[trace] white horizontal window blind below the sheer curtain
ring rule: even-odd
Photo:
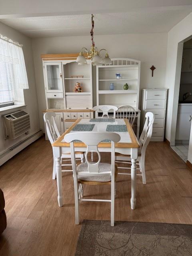
[[[15,100],[13,64],[0,61],[0,104]]]

